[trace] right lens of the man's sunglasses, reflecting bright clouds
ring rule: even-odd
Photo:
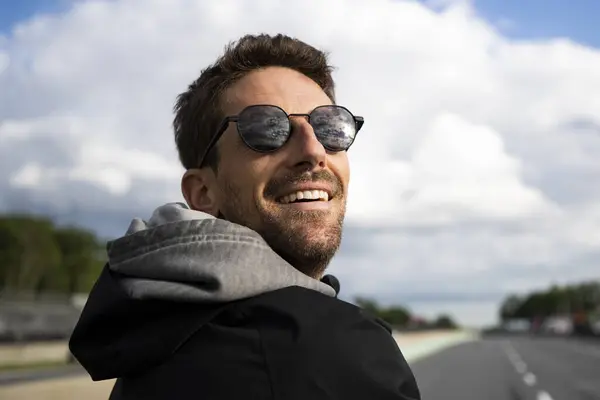
[[[321,144],[328,150],[347,150],[356,136],[354,117],[341,106],[315,108],[310,114],[310,124]]]

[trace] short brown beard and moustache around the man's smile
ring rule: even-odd
[[[219,218],[256,231],[294,268],[320,279],[342,240],[346,204],[341,183],[326,172],[296,174],[270,182],[265,188],[265,198],[274,200],[274,193],[283,185],[317,181],[332,183],[335,188],[332,197],[339,201],[338,208],[332,205],[327,211],[301,211],[275,203],[264,204],[253,197],[244,202],[239,188],[228,182],[222,186],[227,204],[221,208]]]

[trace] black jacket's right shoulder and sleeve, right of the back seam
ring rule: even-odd
[[[245,307],[257,318],[276,399],[420,398],[391,329],[362,309],[298,287]]]

